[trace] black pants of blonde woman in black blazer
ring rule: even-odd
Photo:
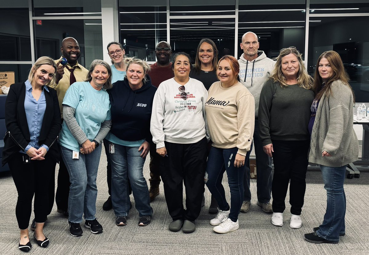
[[[18,192],[15,215],[20,229],[26,229],[30,224],[34,195],[35,221],[39,223],[45,222],[50,210],[50,180],[52,174],[55,173],[55,162],[48,158],[47,155],[44,160],[32,160],[27,164],[23,163],[24,155],[26,154],[17,152],[8,161]]]

